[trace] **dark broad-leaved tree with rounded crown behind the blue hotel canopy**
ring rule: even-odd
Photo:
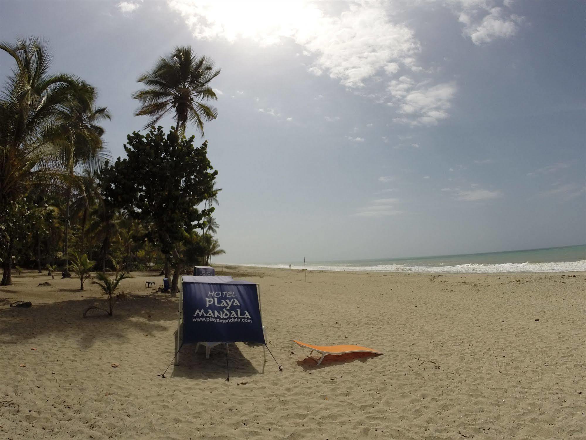
[[[211,194],[217,171],[207,158],[207,141],[193,146],[194,136],[151,128],[133,133],[124,145],[127,158],[103,170],[104,200],[125,209],[147,229],[146,237],[167,260],[173,256],[172,290],[177,290],[181,259],[177,246],[200,228],[214,208],[197,208]]]

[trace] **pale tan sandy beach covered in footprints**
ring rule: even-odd
[[[222,346],[209,360],[185,346],[157,377],[173,357],[178,299],[144,287],[158,274],[132,275],[113,317],[82,317],[104,301],[89,282],[80,292],[77,279],[23,272],[0,287],[1,438],[586,438],[586,273],[225,266],[260,285],[282,363],[231,345],[229,382]],[[316,366],[292,339],[384,355]]]

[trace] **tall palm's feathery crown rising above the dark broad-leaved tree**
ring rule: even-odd
[[[203,101],[217,100],[209,84],[218,75],[220,70],[214,70],[212,60],[197,57],[190,46],[178,46],[171,55],[161,57],[154,69],[138,78],[147,88],[132,94],[141,103],[135,116],[149,116],[151,119],[144,127],[149,128],[166,113],[174,112],[179,134],[185,133],[190,121],[203,136],[203,121],[217,117],[216,108]]]

